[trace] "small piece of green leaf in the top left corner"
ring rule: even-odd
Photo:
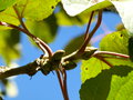
[[[0,0],[0,11],[11,7],[16,3],[17,0]]]

